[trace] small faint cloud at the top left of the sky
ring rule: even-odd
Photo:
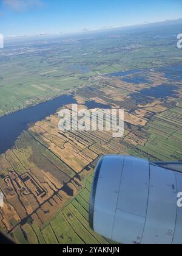
[[[42,0],[2,0],[6,7],[9,7],[18,12],[22,12],[24,10],[40,7],[43,5]]]

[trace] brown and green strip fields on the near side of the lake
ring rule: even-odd
[[[124,78],[135,77],[139,75],[98,75],[92,78],[92,88],[77,88],[74,93],[80,108],[93,100],[125,106],[123,138],[106,131],[62,132],[58,114],[53,113],[32,124],[15,147],[1,155],[2,230],[20,243],[109,243],[88,224],[93,169],[99,157],[130,154],[169,161],[182,155],[182,79],[173,80],[170,88],[165,71],[141,69],[140,79],[145,77],[147,84],[125,82]],[[161,85],[169,86],[168,94],[158,96]],[[151,96],[153,88],[157,94]]]

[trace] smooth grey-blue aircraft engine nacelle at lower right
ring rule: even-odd
[[[181,244],[179,166],[122,155],[103,157],[90,197],[90,227],[118,243]]]

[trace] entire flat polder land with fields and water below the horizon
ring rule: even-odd
[[[25,244],[110,243],[89,227],[99,158],[182,158],[180,32],[178,20],[7,41],[0,50],[2,231]],[[124,108],[124,137],[60,131],[58,109],[73,103]]]

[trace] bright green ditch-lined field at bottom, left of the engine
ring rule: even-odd
[[[93,176],[86,180],[86,187],[41,229],[35,224],[24,226],[29,243],[39,244],[109,244],[89,227],[89,201]],[[21,229],[13,232],[20,243],[27,243]]]

